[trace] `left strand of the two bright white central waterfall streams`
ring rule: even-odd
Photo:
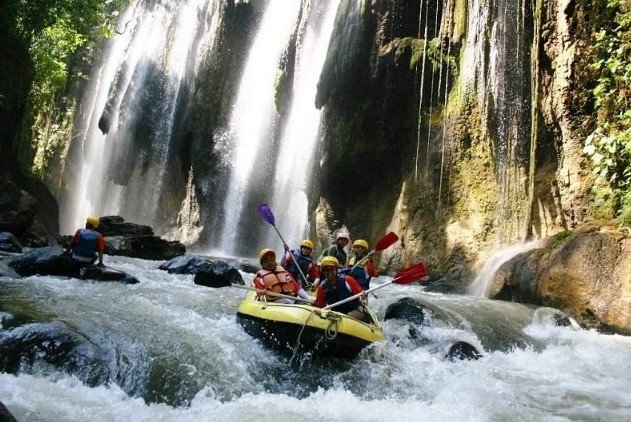
[[[233,106],[228,137],[234,145],[220,249],[235,253],[252,171],[261,154],[274,152],[274,88],[278,64],[294,29],[300,2],[270,1],[250,48]],[[266,175],[267,176],[267,175]]]

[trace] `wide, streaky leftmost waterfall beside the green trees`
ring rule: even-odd
[[[87,215],[164,223],[160,201],[193,89],[190,75],[212,50],[224,8],[215,0],[136,1],[122,15],[122,34],[95,66],[75,121],[81,152],[63,204],[63,231]]]

